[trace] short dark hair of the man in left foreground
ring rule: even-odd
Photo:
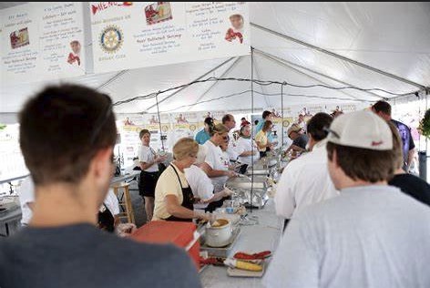
[[[19,142],[36,185],[77,183],[117,140],[112,101],[88,87],[46,87],[19,112]]]

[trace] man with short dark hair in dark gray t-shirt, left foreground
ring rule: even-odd
[[[96,227],[117,141],[107,95],[77,85],[46,87],[26,102],[19,123],[36,201],[28,227],[0,239],[0,287],[201,286],[183,250]]]

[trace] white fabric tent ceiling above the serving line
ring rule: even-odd
[[[0,8],[14,4],[16,3],[1,3]],[[414,92],[421,86],[430,86],[428,3],[257,2],[251,3],[250,6],[251,23],[255,24],[251,26],[251,45],[255,47],[253,62],[255,78],[287,81],[297,85],[378,87],[399,94]],[[309,46],[299,44],[289,37]],[[212,59],[118,72],[87,75],[61,82],[99,87],[114,101],[119,101],[187,84],[199,78],[249,78],[251,57]],[[407,81],[403,81],[402,78]],[[0,112],[18,111],[26,98],[45,84],[2,87]],[[200,83],[159,95],[159,100],[163,101],[159,108],[161,111],[251,108],[251,93],[247,92],[250,89],[249,82]],[[281,92],[279,85],[270,87],[254,85],[254,90],[254,108],[281,107],[279,96],[261,95],[261,93],[279,94]],[[380,91],[369,93],[323,87],[306,89],[285,87],[284,92],[284,106],[351,102],[357,99],[372,102],[381,97],[394,97]],[[208,101],[235,93],[241,94],[183,107],[197,101]],[[150,113],[157,111],[154,105],[155,99],[139,100],[118,106],[116,111]]]

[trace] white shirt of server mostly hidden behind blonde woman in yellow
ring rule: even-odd
[[[213,196],[213,184],[208,175],[196,165],[184,170],[185,178],[189,182],[194,196],[199,197],[201,200],[208,200]],[[196,209],[204,209],[208,204],[194,204]]]

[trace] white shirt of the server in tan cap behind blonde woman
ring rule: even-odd
[[[215,146],[215,144],[213,144],[210,140],[206,141],[203,146],[207,148],[205,162],[212,170],[229,170],[229,163],[226,162],[226,157],[224,156],[220,147]],[[215,193],[218,193],[220,190],[224,189],[224,184],[228,179],[229,177],[227,176],[214,177],[210,179],[212,180]]]

